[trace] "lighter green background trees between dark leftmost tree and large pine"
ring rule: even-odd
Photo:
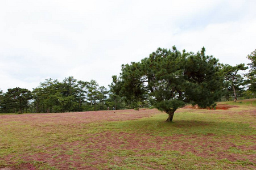
[[[108,90],[95,80],[84,82],[69,76],[63,82],[46,79],[32,94],[36,113],[98,111],[106,109]]]

